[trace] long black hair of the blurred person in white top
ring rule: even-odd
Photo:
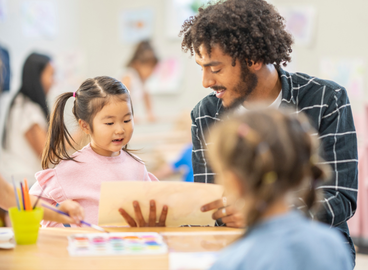
[[[34,103],[38,104],[42,109],[45,118],[48,119],[50,112],[47,106],[46,94],[41,84],[41,74],[44,71],[46,65],[51,61],[51,58],[44,54],[30,54],[23,66],[22,74],[22,86],[18,93],[14,96],[10,103],[10,107],[7,113],[7,122],[10,115],[10,111],[14,106],[14,101],[19,94],[23,94]],[[2,146],[6,148],[6,130],[8,124],[5,125],[5,130],[2,137]]]

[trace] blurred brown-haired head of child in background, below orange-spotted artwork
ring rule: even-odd
[[[128,63],[128,67],[136,69],[140,78],[145,81],[151,76],[157,63],[158,58],[150,42],[142,41],[137,45],[133,57]]]

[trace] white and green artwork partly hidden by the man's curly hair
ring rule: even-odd
[[[208,0],[166,0],[166,35],[178,38],[186,19],[197,14],[198,8]]]

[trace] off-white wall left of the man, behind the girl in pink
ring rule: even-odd
[[[153,44],[162,57],[181,57],[184,63],[184,80],[180,91],[174,95],[154,96],[154,108],[158,116],[169,112],[175,115],[184,108],[193,108],[210,91],[202,87],[200,68],[189,54],[181,51],[181,41],[170,40],[162,30],[165,24],[165,0],[51,0],[57,6],[58,34],[54,39],[26,38],[21,28],[21,0],[8,0],[7,20],[0,22],[0,44],[8,48],[11,57],[12,90],[20,86],[21,69],[26,56],[32,51],[53,55],[58,62],[65,55],[77,52],[82,63],[78,80],[65,84],[59,81],[53,91],[75,91],[86,78],[116,76],[127,62],[134,46],[122,44],[118,36],[118,15],[126,8],[153,7],[155,27]],[[60,71],[60,70],[59,70]],[[60,77],[60,76],[59,76]]]

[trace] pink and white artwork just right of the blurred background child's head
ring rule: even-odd
[[[160,60],[146,83],[147,90],[151,94],[178,93],[183,77],[182,66],[182,62],[176,57]]]

